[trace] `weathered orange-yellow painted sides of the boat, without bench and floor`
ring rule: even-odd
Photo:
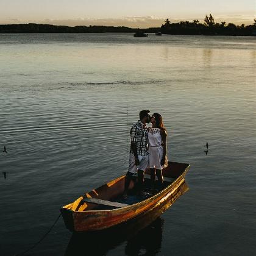
[[[169,183],[163,190],[154,194],[154,196],[136,204],[111,210],[93,210],[96,208],[95,204],[82,201],[85,197],[111,201],[119,196],[124,191],[125,176],[118,177],[79,197],[73,203],[62,207],[60,212],[62,213],[65,225],[71,231],[107,229],[135,218],[142,213],[149,212],[155,207],[161,207],[161,205],[166,204],[166,201],[171,201],[172,197],[175,197],[179,193],[179,187],[185,182],[184,177],[189,167],[189,164],[169,162],[169,166],[163,169],[163,177],[164,179],[165,177],[171,177],[175,178],[175,180]],[[146,171],[147,173],[149,174],[149,170]],[[130,189],[133,186],[134,182],[131,182]]]

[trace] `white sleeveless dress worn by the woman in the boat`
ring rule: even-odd
[[[167,165],[161,165],[163,158],[163,140],[159,128],[149,128],[148,131],[149,144],[149,168],[163,169]]]

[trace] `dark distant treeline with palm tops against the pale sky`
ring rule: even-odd
[[[215,23],[212,16],[206,15],[204,24],[199,20],[180,21],[179,23],[171,23],[169,19],[165,20],[165,24],[161,27],[149,27],[148,29],[140,29],[141,32],[171,35],[254,35],[256,36],[256,19],[249,26],[244,24],[235,25],[233,23],[226,24],[226,21]],[[113,27],[113,26],[55,26],[49,24],[9,24],[0,25],[0,33],[104,33],[104,32],[137,32],[138,29],[130,27]]]

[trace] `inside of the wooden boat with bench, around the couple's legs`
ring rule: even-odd
[[[84,212],[89,210],[113,210],[144,201],[168,187],[177,179],[177,177],[182,175],[189,166],[185,163],[168,163],[168,167],[162,171],[163,183],[158,182],[157,177],[155,177],[154,187],[151,181],[150,170],[147,169],[145,171],[143,193],[138,194],[137,175],[133,174],[128,196],[127,198],[124,198],[123,192],[125,176],[121,176],[84,194],[84,196],[79,197],[76,201],[65,205],[63,208],[75,212]]]

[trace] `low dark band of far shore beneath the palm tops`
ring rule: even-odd
[[[211,36],[256,36],[256,26],[226,26],[226,27],[210,27],[204,24],[197,24],[181,27],[180,23],[173,23],[165,27],[149,27],[147,29],[135,29],[124,26],[59,26],[51,24],[0,24],[1,34],[87,34],[87,33],[136,33],[138,31],[144,33],[161,32],[163,35],[211,35]]]

